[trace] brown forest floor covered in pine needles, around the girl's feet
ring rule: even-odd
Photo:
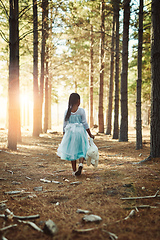
[[[0,130],[0,237],[3,235],[2,239],[8,240],[159,240],[160,195],[156,197],[156,192],[160,189],[160,159],[139,164],[150,153],[149,129],[143,128],[141,150],[135,150],[135,129],[130,129],[128,142],[97,134],[94,142],[99,148],[99,165],[95,169],[84,164],[79,177],[72,176],[70,162],[56,155],[61,139],[62,134],[58,132],[33,138],[25,131],[18,150],[10,151],[7,132]],[[153,197],[121,199],[137,196]],[[39,214],[39,218],[27,221],[42,230],[51,219],[58,231],[54,236],[39,232],[26,220],[19,222],[14,215],[7,215],[6,208],[18,216]],[[78,213],[78,209],[90,213]],[[85,222],[84,216],[90,214],[102,220]],[[3,229],[14,224],[8,230]]]

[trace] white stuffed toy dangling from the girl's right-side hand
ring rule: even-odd
[[[94,167],[97,167],[98,160],[99,160],[98,148],[94,144],[93,138],[90,138],[89,142],[90,142],[90,147],[88,148],[85,159],[86,159],[88,166],[90,166],[92,164]]]

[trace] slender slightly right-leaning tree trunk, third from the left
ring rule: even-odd
[[[42,0],[42,45],[41,45],[41,77],[40,77],[40,132],[42,132],[42,107],[43,88],[45,75],[45,50],[46,50],[46,29],[47,29],[47,8],[48,0]]]

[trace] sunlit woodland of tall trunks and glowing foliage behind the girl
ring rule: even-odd
[[[119,138],[125,115],[126,133],[120,128],[120,138],[126,135],[127,141],[128,121],[136,126],[136,105],[142,106],[140,131],[142,125],[150,123],[151,1],[144,1],[143,6],[143,1],[4,0],[0,1],[0,11],[0,122],[13,133],[9,133],[10,148],[16,148],[16,139],[21,139],[20,126],[33,131],[35,136],[48,129],[59,130],[57,126],[62,125],[71,92],[81,95],[81,106],[86,110],[90,127],[97,125],[100,132],[113,134],[113,138]],[[16,21],[17,28],[13,31]],[[127,28],[125,21],[129,24],[128,34],[123,35]],[[143,32],[142,40],[139,32]],[[18,70],[14,81],[8,68],[15,43]],[[142,43],[143,54],[138,64]],[[141,76],[138,76],[140,65]],[[136,98],[137,79],[142,88],[140,100]],[[13,99],[7,100],[8,89],[10,92],[14,88],[11,82],[17,82],[15,95],[20,99],[17,100],[20,104],[15,103],[17,107],[13,107]],[[125,101],[124,109],[120,101]],[[16,112],[20,120],[13,120]],[[12,119],[9,126],[8,119]]]

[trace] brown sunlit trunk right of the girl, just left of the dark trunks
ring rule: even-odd
[[[104,117],[103,117],[103,82],[104,82],[104,40],[105,40],[105,2],[101,1],[101,38],[100,38],[100,86],[99,86],[99,132],[104,133]]]

